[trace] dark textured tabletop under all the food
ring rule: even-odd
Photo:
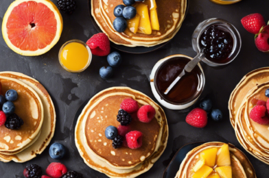
[[[0,22],[13,0],[0,0]],[[54,0],[56,3],[56,0]],[[268,54],[257,50],[254,36],[241,25],[240,19],[247,14],[259,12],[266,21],[269,20],[269,1],[243,0],[234,5],[216,5],[209,0],[190,0],[189,12],[178,34],[163,48],[152,53],[130,55],[122,53],[124,61],[115,71],[113,79],[103,80],[99,76],[99,68],[107,65],[106,57],[93,56],[91,66],[83,73],[73,74],[65,71],[58,62],[58,51],[67,40],[78,39],[86,42],[97,33],[91,23],[86,0],[78,0],[78,9],[71,16],[62,14],[64,27],[62,36],[54,48],[44,55],[25,57],[14,53],[0,36],[0,71],[16,71],[34,77],[47,88],[56,107],[57,121],[53,142],[64,144],[68,153],[60,160],[69,170],[76,170],[84,177],[106,177],[84,164],[73,142],[73,118],[75,112],[84,101],[94,94],[112,86],[128,86],[139,90],[154,99],[148,77],[154,64],[167,55],[182,53],[194,57],[196,53],[191,47],[191,34],[201,21],[207,18],[224,18],[237,29],[242,36],[242,49],[235,61],[222,68],[213,68],[202,64],[206,75],[206,86],[202,97],[209,94],[213,98],[215,108],[224,112],[224,120],[215,123],[209,120],[207,127],[198,129],[185,123],[189,110],[165,110],[169,123],[169,140],[167,149],[154,166],[139,177],[162,177],[163,170],[169,160],[180,147],[190,142],[222,141],[231,142],[244,151],[235,137],[235,131],[229,121],[228,101],[230,94],[246,73],[256,68],[269,65]],[[244,151],[246,153],[246,151]],[[269,166],[246,153],[255,167],[258,178],[269,175]],[[56,160],[49,157],[48,148],[30,162],[18,164],[0,162],[0,177],[23,177],[23,169],[30,164],[42,166],[43,173],[50,162]]]

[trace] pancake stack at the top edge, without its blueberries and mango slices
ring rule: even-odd
[[[145,4],[150,0],[145,0]],[[187,9],[187,0],[156,0],[159,31],[152,34],[132,33],[130,29],[119,33],[113,28],[114,8],[124,4],[122,0],[91,0],[91,14],[108,38],[127,47],[152,47],[171,40],[180,29]],[[135,6],[136,4],[134,4]]]

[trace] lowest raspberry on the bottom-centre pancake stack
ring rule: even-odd
[[[142,136],[141,131],[130,131],[126,134],[126,141],[130,149],[138,149],[142,146]]]

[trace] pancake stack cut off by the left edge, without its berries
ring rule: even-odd
[[[27,162],[42,153],[54,136],[56,112],[47,90],[22,73],[0,73],[2,92],[18,92],[15,113],[24,124],[20,129],[0,126],[0,161]]]

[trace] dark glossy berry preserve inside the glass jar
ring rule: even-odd
[[[199,40],[200,49],[204,49],[205,57],[216,63],[229,62],[233,51],[233,37],[230,32],[219,25],[206,29]]]

